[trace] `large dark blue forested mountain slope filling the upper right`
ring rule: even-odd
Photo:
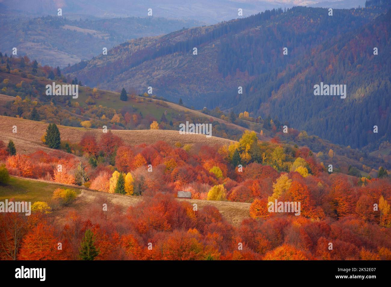
[[[374,149],[391,135],[391,12],[389,1],[367,6],[334,9],[332,16],[324,8],[278,9],[135,39],[65,72],[111,90],[144,93],[151,86],[196,108],[271,114],[334,143]],[[314,96],[321,82],[346,84],[346,98]]]

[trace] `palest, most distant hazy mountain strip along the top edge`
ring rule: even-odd
[[[57,8],[63,15],[78,17],[144,17],[151,8],[153,16],[172,19],[194,19],[214,24],[219,21],[238,18],[238,9],[243,9],[247,17],[266,9],[290,8],[294,5],[312,7],[352,8],[364,6],[365,0],[2,0],[0,5],[5,12],[53,15]]]

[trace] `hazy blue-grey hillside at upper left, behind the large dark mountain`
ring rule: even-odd
[[[66,16],[0,15],[0,51],[10,55],[16,47],[18,55],[34,57],[42,65],[65,67],[89,60],[102,53],[104,47],[110,49],[129,39],[167,34],[201,24],[195,20],[158,17],[70,20]]]

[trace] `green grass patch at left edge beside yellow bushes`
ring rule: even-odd
[[[65,188],[57,184],[11,177],[7,185],[0,185],[0,201],[14,198],[15,201],[31,201],[31,203],[35,201],[49,202],[54,190],[59,187]],[[80,189],[66,188],[80,194]]]

